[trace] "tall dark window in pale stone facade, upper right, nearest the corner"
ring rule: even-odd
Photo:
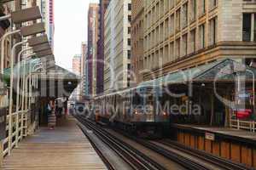
[[[252,14],[242,15],[242,41],[251,41]]]

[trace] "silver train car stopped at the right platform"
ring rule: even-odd
[[[169,116],[160,111],[160,88],[130,88],[95,99],[98,122],[142,138],[160,138],[169,125]]]

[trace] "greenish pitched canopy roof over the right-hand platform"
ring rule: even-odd
[[[220,59],[184,71],[175,71],[166,76],[142,82],[138,87],[181,84],[187,82],[233,82],[236,72],[244,72],[247,81],[253,81],[256,69],[232,59]]]

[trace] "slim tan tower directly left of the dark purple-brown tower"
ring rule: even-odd
[[[88,11],[88,54],[86,67],[86,95],[96,96],[97,42],[99,34],[99,4],[90,3]]]

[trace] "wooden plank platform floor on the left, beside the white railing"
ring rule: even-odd
[[[23,139],[11,156],[5,157],[3,170],[102,170],[107,169],[73,118],[49,130],[42,127]]]

